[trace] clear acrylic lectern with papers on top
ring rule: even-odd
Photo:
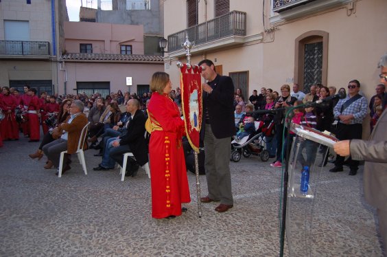
[[[288,201],[286,212],[286,237],[290,256],[312,256],[313,212],[318,197],[318,182],[322,164],[329,147],[338,141],[315,129],[298,126],[291,129],[296,136],[292,142],[289,158]],[[309,167],[309,187],[301,192],[301,172]],[[321,167],[320,167],[321,166]]]

